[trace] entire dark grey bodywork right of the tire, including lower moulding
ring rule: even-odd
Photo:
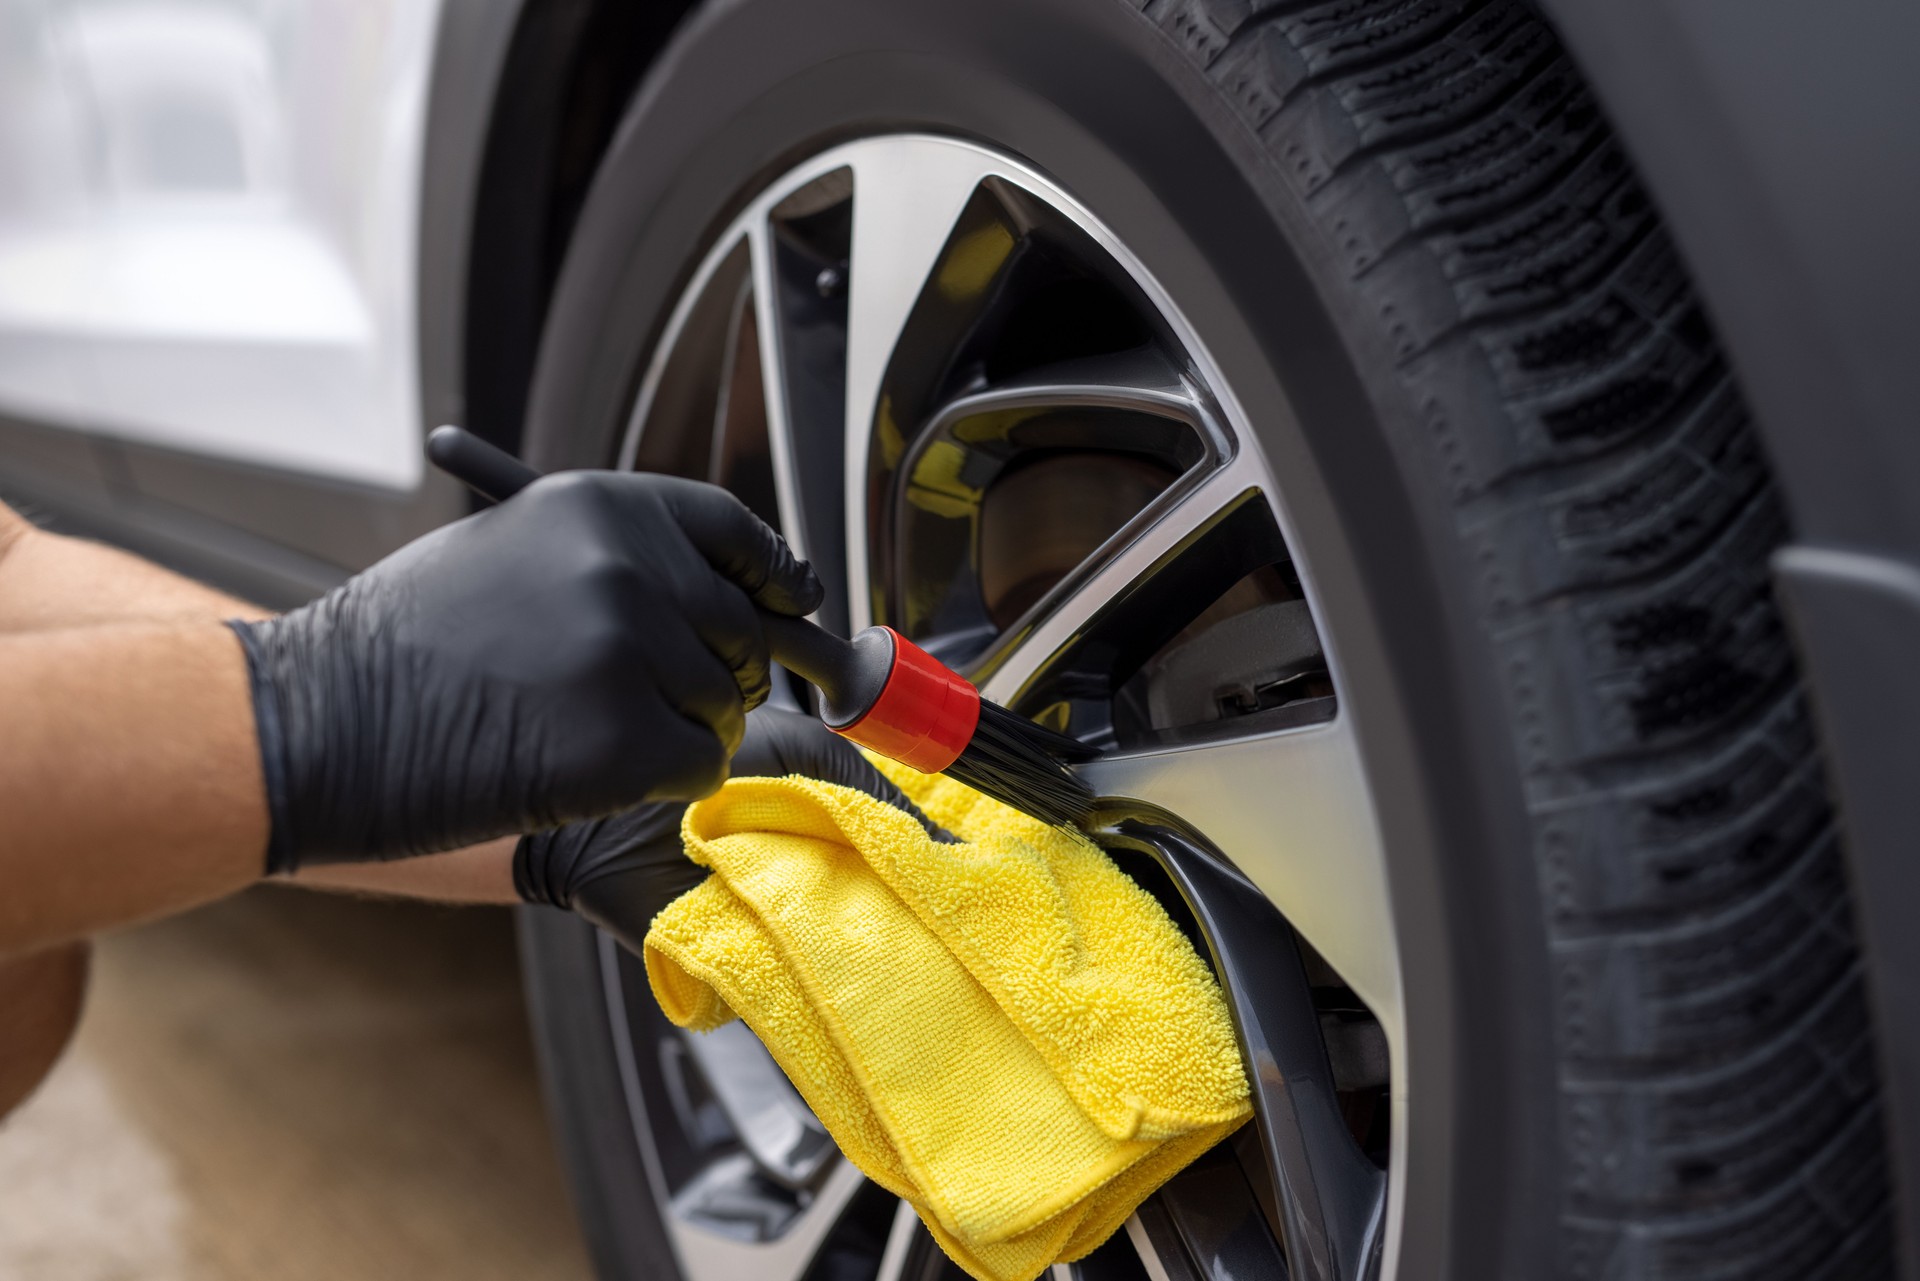
[[[1540,0],[1645,175],[1788,497],[1907,1275],[1920,1275],[1920,6]]]

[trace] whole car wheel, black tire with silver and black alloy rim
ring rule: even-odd
[[[829,626],[1100,749],[1096,839],[1213,960],[1258,1124],[1064,1275],[1887,1268],[1780,505],[1524,4],[710,6],[528,432],[728,484]],[[749,1033],[522,937],[605,1275],[950,1269]]]

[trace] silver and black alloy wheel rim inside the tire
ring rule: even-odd
[[[956,390],[954,353],[941,342],[973,342],[983,313],[972,328],[941,326],[941,307],[954,298],[1010,315],[1031,307],[1006,265],[1027,242],[1000,244],[995,207],[1016,240],[1098,259],[1075,265],[1144,317],[1146,340],[1033,361],[1035,348],[1048,350],[1041,336],[1025,348],[1029,367],[989,359],[985,375]],[[804,288],[808,271],[816,298]],[[1014,302],[979,302],[995,292]],[[749,421],[760,423],[766,457],[739,478],[730,467]],[[689,436],[689,423],[705,424],[705,438]],[[1014,449],[1016,428],[1039,444]],[[1018,547],[1014,567],[996,570],[983,553],[995,495],[1025,486],[1044,499],[1033,476],[1058,457],[1085,476],[1096,451],[1062,449],[1085,440],[1102,442],[1102,457],[1114,453],[1108,440],[1125,440],[1135,469],[1144,459],[1171,476],[1158,492],[1142,482],[1135,503],[1114,503],[1094,545],[1054,540],[1068,551],[1037,578],[1021,578],[1033,567]],[[1177,893],[1175,910],[1198,928],[1254,1064],[1258,1125],[1231,1147],[1246,1179],[1236,1195],[1250,1189],[1261,1214],[1221,1218],[1208,1177],[1233,1175],[1196,1168],[1142,1206],[1123,1241],[1056,1275],[1281,1275],[1283,1254],[1294,1277],[1392,1275],[1405,1016],[1386,862],[1346,711],[1365,691],[1348,688],[1336,638],[1319,632],[1311,549],[1292,538],[1283,480],[1200,334],[1140,261],[1068,192],[998,152],[927,134],[833,148],[755,196],[693,273],[636,398],[620,467],[636,465],[732,476],[749,505],[828,570],[829,624],[858,628],[881,615],[968,670],[989,697],[1106,747],[1081,768],[1106,799],[1102,841]],[[1127,469],[1108,467],[1117,467],[1108,492],[1123,492]],[[1037,507],[1044,503],[1025,503]],[[973,532],[958,559],[943,520]],[[1025,540],[1037,542],[1048,540]],[[1181,638],[1215,597],[1275,565],[1296,584],[1279,595],[1298,603],[1265,601],[1231,618],[1269,636],[1271,620],[1286,622],[1288,643],[1311,651],[1302,670],[1248,668],[1233,707],[1221,701],[1206,724],[1179,720],[1164,707],[1177,699],[1160,697],[1154,682],[1185,689],[1196,672],[1213,678],[1225,653],[1217,634],[1260,628],[1229,618],[1185,645]],[[964,582],[952,588],[943,574]],[[996,574],[1014,586],[1000,592]],[[1231,592],[1215,592],[1221,582]],[[985,620],[975,616],[983,611]],[[1140,634],[1162,640],[1146,665],[1114,666],[1139,659],[1114,655],[1139,649]],[[1085,697],[1102,678],[1108,693]],[[1144,693],[1129,695],[1140,682]],[[1152,713],[1127,718],[1127,697],[1144,697]],[[1309,983],[1290,933],[1308,945],[1319,979]],[[636,1137],[691,1281],[939,1275],[943,1260],[910,1214],[837,1156],[810,1168],[797,1156],[812,1118],[764,1049],[747,1037],[728,1062],[689,1049],[653,1010],[634,960],[605,937],[601,960]],[[1325,981],[1329,972],[1336,983]],[[1315,1001],[1325,1006],[1336,989],[1363,1010],[1354,1026],[1384,1041],[1390,1139],[1375,1160],[1357,1141],[1365,1124],[1344,1102],[1356,1091],[1336,1097],[1340,1070],[1327,1066],[1327,1037],[1348,1014]],[[695,1052],[707,1062],[689,1066]],[[722,1139],[689,1156],[693,1131]],[[1210,1198],[1212,1225],[1202,1214]],[[1116,1250],[1125,1258],[1114,1262]]]

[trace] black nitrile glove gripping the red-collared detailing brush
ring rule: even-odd
[[[768,691],[755,603],[804,615],[820,582],[733,495],[563,472],[303,609],[234,622],[267,870],[707,795]]]

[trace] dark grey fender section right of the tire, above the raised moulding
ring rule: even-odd
[[[1536,0],[1730,351],[1797,534],[1920,555],[1920,10]],[[1895,109],[1903,106],[1903,109]]]

